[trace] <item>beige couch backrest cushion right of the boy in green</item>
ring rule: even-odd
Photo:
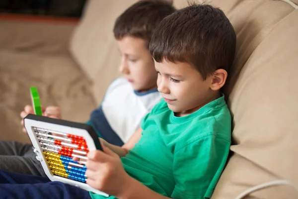
[[[225,88],[233,115],[232,156],[214,199],[277,179],[298,185],[298,10],[278,0],[213,0],[237,34],[233,72]],[[245,199],[294,199],[285,186]]]

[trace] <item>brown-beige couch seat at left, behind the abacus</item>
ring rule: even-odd
[[[0,51],[0,139],[28,141],[19,113],[37,87],[44,106],[58,105],[65,119],[84,122],[95,102],[90,83],[69,56]]]

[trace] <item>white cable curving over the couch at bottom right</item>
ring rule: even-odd
[[[239,194],[235,199],[243,199],[245,196],[256,192],[260,189],[264,189],[264,188],[268,188],[268,187],[272,187],[272,186],[278,186],[278,185],[289,185],[291,187],[293,187],[297,192],[298,192],[298,187],[296,187],[294,184],[290,183],[287,180],[276,180],[276,181],[270,181],[267,183],[263,183],[261,185],[257,185],[254,186],[252,188],[249,188],[248,190],[242,192],[241,194]]]

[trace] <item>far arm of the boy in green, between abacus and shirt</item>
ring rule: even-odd
[[[128,154],[128,151],[135,147],[135,144],[140,140],[142,136],[143,129],[140,127],[136,130],[136,132],[133,134],[133,136],[128,140],[127,143],[125,143],[122,147],[116,146],[113,144],[108,143],[104,139],[100,139],[101,143],[111,149],[114,153],[116,153],[120,158],[126,156]]]

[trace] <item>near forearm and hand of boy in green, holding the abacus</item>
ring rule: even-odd
[[[103,151],[90,151],[87,157],[86,182],[94,189],[117,199],[170,199],[129,176],[119,156],[108,147],[103,145]]]

